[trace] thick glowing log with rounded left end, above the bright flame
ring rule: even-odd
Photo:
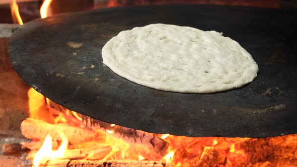
[[[41,120],[27,118],[21,124],[22,134],[28,139],[44,140],[49,134],[53,141],[61,141],[59,132],[62,132],[72,145],[94,140],[95,132],[90,129],[65,126],[61,124],[49,124]]]

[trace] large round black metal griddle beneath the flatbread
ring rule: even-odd
[[[52,101],[108,123],[186,136],[266,137],[297,133],[295,13],[225,6],[99,9],[39,19],[12,36],[20,76]],[[152,23],[223,32],[259,65],[251,84],[216,94],[146,88],[102,64],[101,49],[122,30]],[[69,43],[70,42],[70,43]]]

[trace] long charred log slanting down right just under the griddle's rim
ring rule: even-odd
[[[101,131],[103,133],[107,130],[112,130],[113,133],[110,134],[110,136],[121,138],[133,146],[134,149],[137,149],[137,152],[140,154],[147,154],[147,150],[150,150],[152,153],[149,153],[148,155],[151,157],[147,158],[162,158],[168,153],[167,148],[169,143],[154,134],[118,125],[111,126],[112,124],[72,112],[50,100],[47,100],[47,104],[51,113],[62,113],[63,117],[70,125],[84,127],[85,129],[92,129],[96,132]],[[137,145],[137,147],[135,147],[135,145]]]

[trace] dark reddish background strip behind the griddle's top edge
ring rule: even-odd
[[[23,22],[40,17],[39,9],[43,1],[18,3]],[[246,6],[257,8],[274,8],[296,10],[297,0],[53,0],[51,10],[53,14],[75,11],[86,11],[96,8],[110,8],[137,5],[161,4],[215,4],[229,6]],[[0,0],[0,23],[14,23],[9,4],[2,4]]]

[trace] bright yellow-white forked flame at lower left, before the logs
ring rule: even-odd
[[[33,159],[34,167],[38,167],[42,163],[44,164],[44,162],[49,159],[52,160],[64,156],[68,146],[68,139],[63,133],[59,132],[59,134],[62,139],[62,143],[56,151],[52,150],[52,138],[49,135],[45,137],[41,148],[36,152],[36,155]]]

